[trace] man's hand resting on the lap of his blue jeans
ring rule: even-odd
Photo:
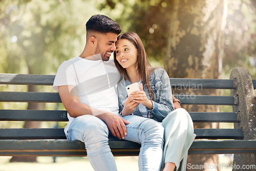
[[[105,124],[108,126],[109,130],[115,137],[118,137],[119,139],[124,139],[124,136],[127,135],[125,124],[129,124],[130,122],[126,121],[122,117],[110,112],[97,115],[96,117],[100,118],[105,122]]]

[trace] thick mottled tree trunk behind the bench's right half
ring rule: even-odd
[[[226,24],[226,1],[174,0],[172,8],[165,56],[165,68],[169,77],[220,78],[223,31]],[[190,86],[192,89],[183,90],[183,92],[174,90],[174,95],[181,93],[188,95],[220,94],[217,90],[201,90],[200,87],[193,87],[193,85],[186,86]],[[219,106],[213,105],[184,105],[183,108],[187,111],[200,112],[220,110]],[[218,128],[218,126],[218,123],[194,124],[195,128]],[[218,155],[193,155],[188,156],[187,163],[218,165],[218,159]]]

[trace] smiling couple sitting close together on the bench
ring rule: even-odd
[[[111,18],[94,15],[86,29],[83,52],[60,65],[53,84],[68,111],[67,138],[84,142],[95,170],[117,170],[109,134],[141,144],[139,170],[185,170],[196,135],[165,70],[151,67],[139,36],[119,35]]]

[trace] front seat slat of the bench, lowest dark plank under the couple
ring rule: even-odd
[[[130,141],[109,141],[115,156],[138,156],[140,144]],[[196,140],[188,154],[255,153],[256,140]],[[129,153],[129,154],[127,154]],[[1,140],[0,156],[86,156],[84,144],[67,140]]]

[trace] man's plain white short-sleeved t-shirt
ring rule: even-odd
[[[58,91],[58,86],[74,85],[79,102],[118,115],[116,88],[119,80],[120,74],[113,59],[109,61],[88,60],[77,56],[64,61],[59,66],[53,90]],[[69,122],[64,130],[66,135],[74,119],[69,114],[68,118]]]

